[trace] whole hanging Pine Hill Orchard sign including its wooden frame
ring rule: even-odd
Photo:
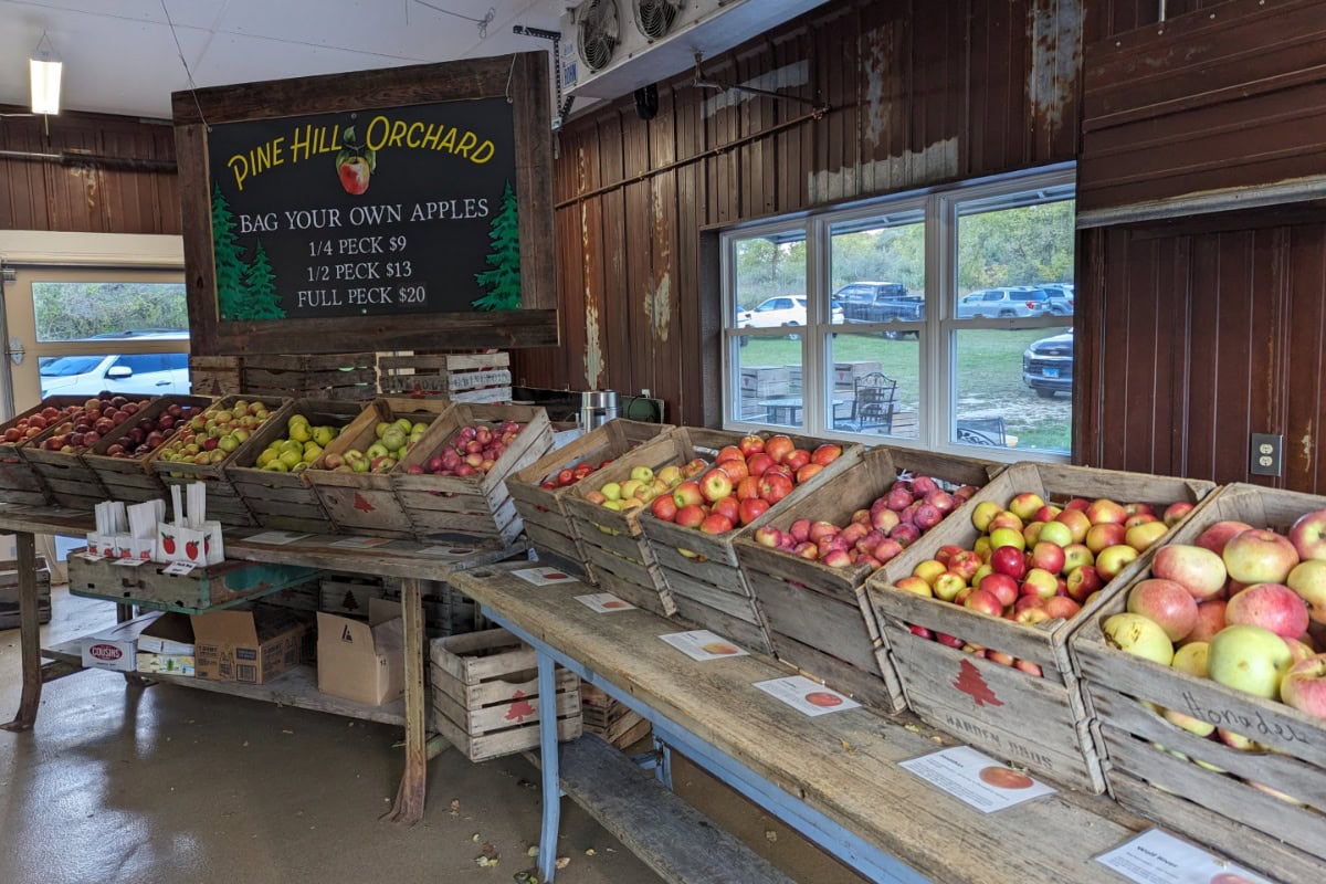
[[[194,353],[556,343],[548,115],[544,53],[176,93]]]

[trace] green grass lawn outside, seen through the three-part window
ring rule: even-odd
[[[1022,383],[1022,351],[1033,341],[1058,334],[1055,329],[1005,331],[973,329],[957,333],[955,402],[959,420],[1002,417],[1017,447],[1066,452],[1071,444],[1073,406],[1066,392],[1041,399]],[[834,362],[878,362],[879,370],[898,380],[902,411],[920,407],[919,342],[888,341],[878,335],[838,334],[833,341]],[[751,338],[740,347],[741,366],[790,366],[801,363],[801,341]]]

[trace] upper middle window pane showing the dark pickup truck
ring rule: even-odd
[[[833,322],[926,318],[924,213],[899,212],[829,228]]]

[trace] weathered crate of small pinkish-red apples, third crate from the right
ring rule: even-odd
[[[1002,464],[956,455],[878,447],[866,451],[853,469],[808,493],[794,506],[765,522],[788,530],[798,518],[846,525],[858,509],[869,509],[888,492],[900,472],[931,476],[951,486],[989,481]],[[949,518],[968,518],[957,508]],[[735,542],[756,604],[769,626],[774,653],[806,675],[890,712],[907,708],[892,660],[883,649],[875,614],[865,598],[869,565],[829,567],[819,562],[761,546],[751,535]],[[884,566],[886,579],[903,577]]]

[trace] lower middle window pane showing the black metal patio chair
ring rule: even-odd
[[[920,437],[920,343],[891,333],[830,335],[826,379],[834,429],[898,439]]]

